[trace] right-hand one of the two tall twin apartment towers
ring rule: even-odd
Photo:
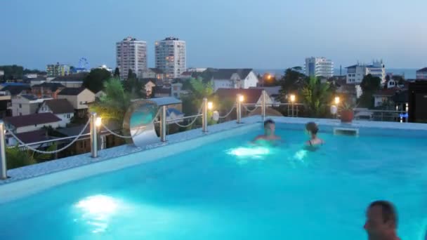
[[[176,37],[166,37],[155,43],[156,67],[161,69],[166,79],[175,79],[185,72],[185,41]]]

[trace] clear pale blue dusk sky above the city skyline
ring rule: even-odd
[[[1,0],[0,65],[115,67],[115,43],[187,42],[188,67],[284,69],[324,56],[335,66],[383,59],[427,67],[426,0]]]

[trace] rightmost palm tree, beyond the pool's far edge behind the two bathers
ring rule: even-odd
[[[306,81],[301,90],[301,95],[309,116],[322,117],[327,115],[331,93],[329,83],[322,84],[316,77],[310,77]]]

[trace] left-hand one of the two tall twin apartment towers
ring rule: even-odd
[[[116,44],[117,67],[120,79],[127,79],[129,69],[140,74],[147,69],[147,43],[128,36]]]

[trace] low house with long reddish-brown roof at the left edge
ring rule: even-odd
[[[6,128],[13,133],[25,133],[29,131],[37,131],[41,128],[51,126],[58,128],[61,119],[50,112],[40,114],[29,114],[22,116],[9,116],[4,118]]]

